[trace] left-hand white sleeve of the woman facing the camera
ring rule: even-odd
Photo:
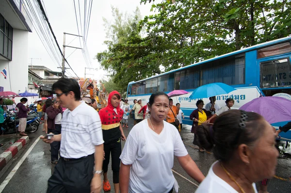
[[[138,144],[135,141],[134,137],[129,133],[129,136],[126,138],[125,145],[120,155],[120,160],[125,165],[132,164],[137,158]]]

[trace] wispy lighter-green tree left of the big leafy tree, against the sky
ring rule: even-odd
[[[104,19],[108,40],[104,43],[108,49],[97,53],[96,58],[101,66],[112,73],[112,80],[126,92],[130,81],[144,79],[161,73],[159,64],[152,62],[153,57],[160,54],[150,35],[141,37],[139,9],[134,15],[123,15],[113,8],[114,21]]]

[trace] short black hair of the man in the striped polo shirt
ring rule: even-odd
[[[52,90],[56,89],[60,89],[65,95],[72,91],[75,94],[75,100],[78,101],[81,99],[80,86],[75,79],[60,78],[52,85]]]

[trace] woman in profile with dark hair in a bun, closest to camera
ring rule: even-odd
[[[214,162],[196,193],[257,193],[255,182],[275,175],[278,151],[275,130],[259,114],[222,113],[213,127],[196,129],[197,143],[213,147]]]

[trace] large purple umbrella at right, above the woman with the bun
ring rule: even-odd
[[[277,96],[262,96],[242,105],[240,110],[262,115],[270,124],[291,120],[291,100]]]

